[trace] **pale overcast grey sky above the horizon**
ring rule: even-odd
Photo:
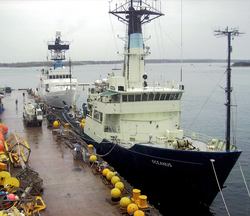
[[[112,1],[110,3],[110,1]],[[0,0],[0,63],[46,61],[46,41],[60,30],[72,61],[122,60],[126,27],[109,14],[125,0]],[[143,26],[148,59],[226,59],[227,38],[238,28],[232,59],[250,59],[249,0],[146,0],[165,15]],[[182,49],[181,49],[182,44]]]

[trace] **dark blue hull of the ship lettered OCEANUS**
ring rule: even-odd
[[[100,155],[107,154],[113,143],[90,142]],[[209,207],[219,192],[212,162],[223,187],[230,171],[238,160],[241,151],[202,152],[154,148],[135,144],[126,149],[116,145],[103,157],[118,173],[134,187],[148,195],[154,205],[166,205],[168,199],[199,203]],[[150,199],[151,198],[151,199]]]

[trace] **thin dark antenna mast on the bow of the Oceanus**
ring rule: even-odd
[[[225,106],[227,107],[227,125],[226,125],[226,151],[230,149],[230,130],[231,130],[231,67],[230,67],[230,61],[231,61],[231,52],[232,52],[232,46],[231,46],[231,37],[234,39],[235,36],[239,36],[240,33],[238,29],[231,29],[228,30],[228,27],[224,30],[214,30],[215,36],[222,35],[227,36],[227,42],[228,42],[228,58],[227,58],[227,87],[225,89],[227,94],[227,102],[225,103]]]

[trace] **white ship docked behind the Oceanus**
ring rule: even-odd
[[[69,41],[61,39],[61,31],[56,31],[55,41],[47,41],[50,59],[54,61],[54,67],[41,70],[37,94],[39,100],[56,108],[75,105],[79,98],[77,93],[77,79],[73,77],[71,61],[69,67],[63,66],[66,59],[65,53],[69,50]],[[47,56],[48,58],[48,56]]]

